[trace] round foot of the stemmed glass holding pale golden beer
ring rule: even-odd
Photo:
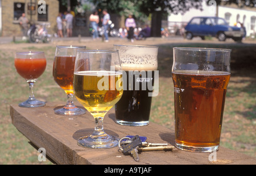
[[[77,144],[84,148],[107,149],[118,146],[118,137],[106,135],[105,137],[85,136],[77,140]]]

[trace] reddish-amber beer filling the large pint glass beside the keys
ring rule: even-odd
[[[187,146],[220,143],[227,72],[173,72],[175,140]]]

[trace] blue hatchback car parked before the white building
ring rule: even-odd
[[[225,19],[214,16],[196,16],[193,17],[185,27],[185,37],[191,40],[199,36],[205,39],[205,36],[217,37],[219,41],[225,41],[228,38],[240,42],[245,36],[245,31],[241,27],[229,26]]]

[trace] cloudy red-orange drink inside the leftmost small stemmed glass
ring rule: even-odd
[[[16,71],[25,79],[36,79],[46,69],[46,58],[15,58]]]

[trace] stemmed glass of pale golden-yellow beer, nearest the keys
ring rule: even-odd
[[[77,144],[95,149],[117,146],[118,137],[104,132],[103,119],[123,94],[118,51],[79,51],[73,86],[76,99],[95,120],[92,135],[81,137]]]

